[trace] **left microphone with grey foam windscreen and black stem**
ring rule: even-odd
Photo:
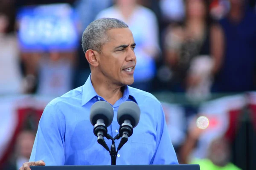
[[[111,125],[113,121],[114,111],[112,106],[105,101],[99,101],[92,105],[90,109],[90,122],[93,125],[93,133],[98,137],[97,141],[107,150],[108,145],[104,140],[104,136],[107,136],[107,127]]]

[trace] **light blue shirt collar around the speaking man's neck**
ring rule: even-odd
[[[82,92],[82,102],[81,105],[85,105],[87,102],[89,102],[93,97],[99,96],[95,89],[93,88],[93,84],[91,82],[91,74],[87,78],[86,82],[83,85],[83,92]],[[128,99],[131,99],[132,101],[136,102],[136,99],[131,91],[131,88],[129,86],[124,87],[124,94],[122,97],[123,101],[126,101]],[[138,103],[137,103],[138,104]]]

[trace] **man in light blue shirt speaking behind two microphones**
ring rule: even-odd
[[[104,100],[113,106],[108,133],[116,136],[116,114],[125,101],[136,102],[140,122],[119,150],[116,164],[178,164],[160,102],[145,91],[131,88],[134,82],[135,42],[128,26],[117,19],[93,21],[84,31],[82,46],[91,74],[85,84],[53,99],[44,109],[30,162],[31,165],[110,165],[107,150],[97,143],[90,123],[93,103]],[[111,140],[106,140],[111,147]],[[116,146],[120,142],[116,140]],[[44,160],[38,161],[38,160]]]

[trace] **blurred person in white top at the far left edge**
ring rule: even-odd
[[[13,9],[4,10],[0,4],[0,95],[21,94],[22,74],[17,37],[12,20]]]

